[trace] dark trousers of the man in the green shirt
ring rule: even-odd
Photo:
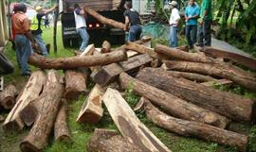
[[[199,45],[210,46],[211,44],[210,25],[211,25],[211,20],[204,20],[203,25],[199,25],[198,35],[197,35],[197,42]]]

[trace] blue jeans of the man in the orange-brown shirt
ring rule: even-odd
[[[32,53],[30,41],[25,35],[16,35],[14,42],[16,45],[16,51],[18,52],[16,55],[19,56],[18,58],[21,61],[22,74],[27,75],[30,73],[27,60]]]

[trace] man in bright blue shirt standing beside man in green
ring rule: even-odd
[[[194,0],[190,0],[189,6],[185,9],[186,37],[190,49],[192,49],[193,44],[196,42],[197,18],[199,14],[199,7],[194,4]]]

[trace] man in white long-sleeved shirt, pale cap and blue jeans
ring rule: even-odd
[[[172,1],[171,3],[169,3],[169,5],[170,5],[170,8],[172,9],[170,20],[169,20],[169,24],[170,24],[169,46],[177,47],[178,45],[177,26],[180,20],[179,11],[177,9],[178,4],[176,1]]]

